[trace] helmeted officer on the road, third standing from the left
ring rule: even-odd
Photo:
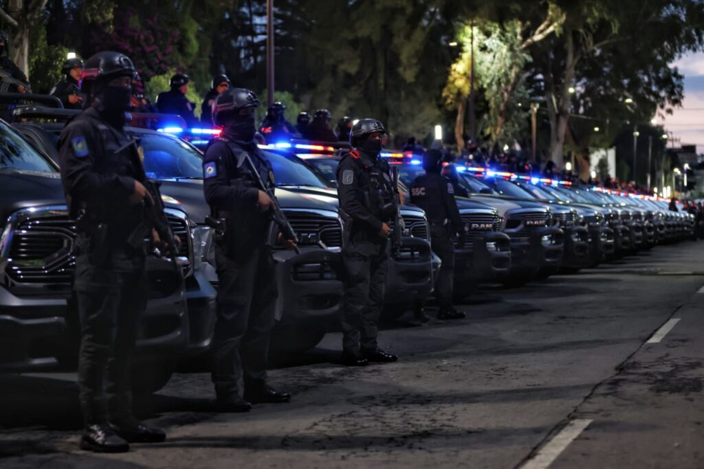
[[[389,221],[394,216],[391,168],[379,157],[385,133],[378,120],[359,120],[350,135],[354,149],[342,157],[337,167],[346,273],[342,363],[348,366],[398,359],[377,344],[377,323],[384,306],[388,271]]]

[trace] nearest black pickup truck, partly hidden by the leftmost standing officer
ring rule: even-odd
[[[71,368],[79,337],[71,289],[75,223],[58,167],[3,121],[0,194],[0,370]],[[168,381],[176,358],[206,346],[198,329],[207,325],[191,321],[184,295],[184,275],[192,275],[194,264],[191,222],[180,204],[167,199],[165,205],[184,242],[180,268],[163,258],[148,260],[149,304],[140,322],[134,380],[146,391]],[[206,284],[201,296],[212,304],[215,292]]]

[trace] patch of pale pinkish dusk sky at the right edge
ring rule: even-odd
[[[689,54],[673,65],[684,74],[684,103],[665,117],[665,129],[673,132],[675,145],[696,144],[704,153],[704,53]],[[658,124],[662,118],[658,117]],[[677,142],[677,139],[680,139]]]

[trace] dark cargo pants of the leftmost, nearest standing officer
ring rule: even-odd
[[[94,425],[132,415],[130,369],[147,301],[146,255],[111,246],[97,256],[87,237],[77,243],[78,387],[84,423]]]

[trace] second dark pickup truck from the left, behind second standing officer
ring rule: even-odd
[[[55,146],[64,125],[63,120],[75,113],[39,106],[18,108],[15,117],[24,118],[25,122],[16,123],[15,127],[56,161]],[[26,121],[36,118],[58,122]],[[161,181],[162,193],[182,204],[194,224],[191,232],[199,284],[202,281],[217,288],[213,232],[205,224],[210,209],[203,197],[202,154],[193,145],[168,132],[139,127],[125,127],[125,130],[142,147],[147,176]],[[318,344],[329,323],[339,313],[344,286],[335,268],[338,255],[334,251],[321,249],[318,242],[339,244],[341,220],[337,211],[330,210],[325,202],[299,196],[287,190],[283,183],[279,183],[277,197],[291,225],[302,235],[301,254],[284,249],[274,253],[279,296],[272,354],[289,354]]]

